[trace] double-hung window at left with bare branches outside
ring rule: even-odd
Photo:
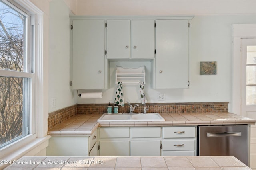
[[[33,133],[34,26],[17,6],[0,1],[0,148]]]

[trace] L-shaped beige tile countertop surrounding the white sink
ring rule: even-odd
[[[98,127],[140,126],[196,126],[255,124],[256,120],[228,112],[221,113],[161,113],[165,121],[146,122],[100,122],[100,115],[75,115],[60,125],[48,130],[48,135],[90,136]]]

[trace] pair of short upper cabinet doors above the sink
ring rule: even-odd
[[[107,20],[108,59],[154,58],[154,20]]]

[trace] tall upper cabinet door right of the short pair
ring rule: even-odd
[[[156,20],[155,88],[188,88],[188,21]]]

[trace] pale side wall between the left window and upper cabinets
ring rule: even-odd
[[[49,17],[49,113],[76,104],[70,90],[70,19],[62,0],[50,1]],[[52,107],[55,100],[55,107]]]

